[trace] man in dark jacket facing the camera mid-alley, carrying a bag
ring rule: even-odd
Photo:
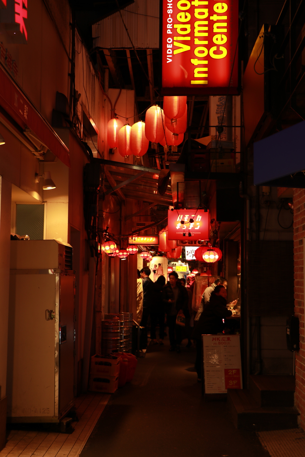
[[[181,352],[182,326],[176,324],[177,314],[182,311],[186,318],[188,312],[188,294],[186,287],[177,282],[178,275],[172,271],[168,276],[169,282],[163,287],[163,302],[165,304],[166,322],[170,338],[170,351]]]

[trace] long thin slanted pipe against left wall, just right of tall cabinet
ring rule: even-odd
[[[81,390],[82,393],[88,391],[88,379],[90,368],[90,350],[91,350],[91,334],[93,320],[93,305],[95,294],[95,278],[96,278],[96,258],[89,259],[89,277],[88,277],[88,292],[86,306],[86,324],[85,324],[85,339],[84,339],[84,354],[82,366]]]

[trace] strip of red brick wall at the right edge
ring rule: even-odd
[[[303,238],[305,238],[305,189],[294,189],[294,312],[300,319],[300,351],[295,353],[295,406],[305,430],[305,331]]]

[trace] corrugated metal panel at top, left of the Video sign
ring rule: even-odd
[[[135,48],[159,48],[159,0],[135,0],[122,9],[123,20]],[[93,24],[94,47],[132,48],[119,12]]]

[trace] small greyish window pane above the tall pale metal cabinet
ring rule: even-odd
[[[16,205],[16,234],[43,239],[44,205]]]

